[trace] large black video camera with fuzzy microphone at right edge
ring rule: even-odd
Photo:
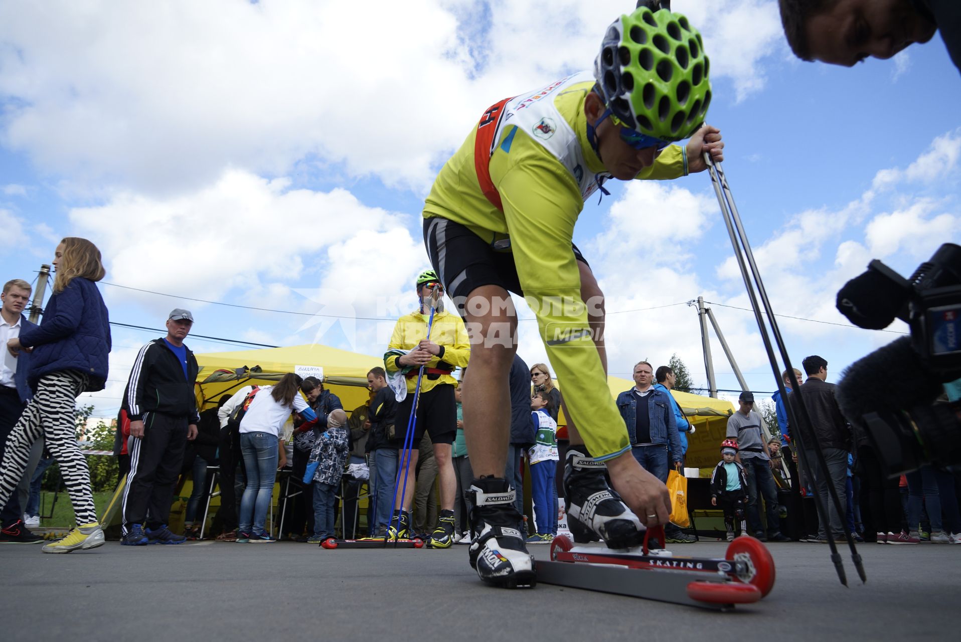
[[[889,475],[961,464],[961,403],[935,403],[944,383],[961,378],[961,247],[945,243],[910,279],[875,259],[838,291],[837,309],[860,328],[899,318],[911,330],[855,362],[838,384],[842,411]]]

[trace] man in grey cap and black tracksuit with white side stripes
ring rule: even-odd
[[[121,539],[126,546],[186,541],[167,528],[167,517],[186,442],[197,436],[197,359],[184,345],[192,326],[189,310],[171,310],[167,335],[140,348],[130,371],[123,401],[130,417]]]

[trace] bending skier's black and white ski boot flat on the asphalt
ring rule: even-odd
[[[537,583],[534,558],[517,530],[522,518],[514,507],[513,488],[506,480],[485,478],[474,480],[468,492],[473,505],[473,540],[468,550],[471,568],[481,580],[495,586],[533,587]]]

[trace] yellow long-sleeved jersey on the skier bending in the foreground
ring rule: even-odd
[[[629,450],[627,427],[607,388],[586,309],[552,305],[580,301],[579,268],[571,248],[574,226],[584,199],[603,182],[598,178],[604,164],[588,142],[584,114],[592,86],[590,74],[576,74],[486,111],[440,170],[424,217],[464,225],[495,249],[513,254],[548,358],[563,383],[570,417],[590,454],[605,460]],[[479,178],[476,159],[478,131],[500,109],[504,111],[497,114],[498,130],[487,156],[487,185],[496,188],[499,209],[484,194],[481,182],[488,179]],[[637,178],[686,174],[685,150],[670,145]]]

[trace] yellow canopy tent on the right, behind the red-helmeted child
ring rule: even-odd
[[[634,387],[634,383],[620,377],[608,377],[607,387],[611,396],[616,399],[617,395]],[[685,465],[689,468],[714,467],[721,460],[721,442],[727,432],[727,417],[734,411],[734,406],[723,399],[702,397],[679,390],[672,390],[671,394],[695,429],[694,434],[687,435]],[[558,423],[567,424],[563,413]]]

